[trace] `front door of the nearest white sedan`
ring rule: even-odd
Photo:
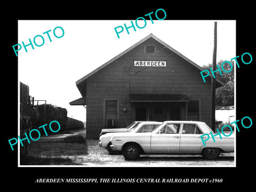
[[[172,153],[180,149],[180,124],[167,123],[157,133],[151,134],[151,153]]]

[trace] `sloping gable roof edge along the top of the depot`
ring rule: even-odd
[[[179,55],[181,58],[185,59],[186,61],[188,61],[191,65],[195,66],[196,68],[198,68],[199,70],[204,70],[204,68],[198,66],[196,63],[194,63],[193,61],[191,61],[190,59],[188,59],[187,57],[185,57],[183,54],[181,54],[180,52],[178,52],[177,50],[173,49],[171,46],[167,45],[165,42],[163,42],[161,39],[157,38],[155,35],[153,34],[149,34],[148,36],[146,36],[145,38],[141,39],[138,43],[135,43],[134,45],[132,45],[131,47],[129,47],[128,49],[126,49],[125,51],[123,51],[122,53],[118,54],[116,57],[114,57],[113,59],[110,59],[108,62],[104,63],[103,65],[101,65],[100,67],[98,67],[97,69],[94,69],[93,71],[91,71],[91,73],[85,75],[84,77],[82,77],[81,79],[79,79],[76,82],[76,85],[78,85],[79,83],[83,82],[85,79],[87,79],[88,77],[90,77],[91,75],[97,73],[100,69],[106,67],[107,65],[109,65],[111,62],[115,61],[116,59],[122,57],[125,53],[131,51],[134,47],[138,46],[139,44],[145,42],[147,39],[149,39],[150,37],[154,38],[157,42],[163,44],[165,47],[167,47],[168,49],[170,49],[172,52],[176,53],[177,55]],[[220,83],[221,85],[223,85],[223,83],[221,81],[219,81],[219,79],[216,79],[216,81],[218,83]]]

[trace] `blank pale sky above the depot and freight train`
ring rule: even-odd
[[[29,86],[35,100],[66,108],[68,116],[86,121],[83,106],[69,102],[81,98],[76,81],[103,65],[150,33],[199,66],[212,63],[213,29],[217,21],[217,62],[236,57],[235,20],[147,20],[145,28],[125,29],[117,37],[114,28],[131,25],[131,20],[19,20],[18,42],[29,44],[36,35],[34,50],[28,45],[18,51],[18,81]],[[140,21],[143,22],[143,21]],[[139,26],[143,23],[138,22]],[[135,21],[133,21],[135,23]],[[134,24],[135,25],[135,24]],[[56,38],[53,30],[65,34]],[[51,31],[49,31],[51,30]],[[44,32],[49,31],[51,41]],[[62,35],[60,28],[55,30]],[[15,53],[13,52],[14,57]],[[18,97],[19,98],[19,97]],[[39,103],[42,104],[42,103]]]

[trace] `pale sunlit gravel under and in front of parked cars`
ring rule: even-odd
[[[234,153],[220,154],[215,160],[201,155],[141,155],[137,161],[125,161],[123,155],[109,155],[98,140],[87,140],[87,155],[74,156],[74,162],[89,166],[234,166]],[[69,157],[72,158],[72,157]]]

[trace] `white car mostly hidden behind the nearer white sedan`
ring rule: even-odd
[[[133,126],[131,129],[129,129],[129,131],[127,132],[122,132],[124,134],[127,133],[148,133],[151,131],[154,131],[156,129],[156,127],[158,127],[159,125],[161,125],[162,122],[142,122],[142,123],[138,123],[136,126]],[[108,153],[110,155],[114,155],[117,154],[117,151],[113,151],[109,146],[112,144],[110,142],[111,137],[115,134],[119,134],[120,132],[114,132],[114,133],[106,133],[100,136],[100,142],[98,143],[98,145],[100,147],[103,148],[107,148],[108,149]]]

